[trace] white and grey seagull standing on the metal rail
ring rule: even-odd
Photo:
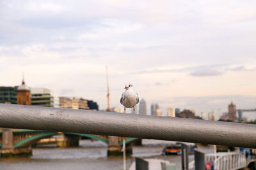
[[[125,85],[124,92],[120,99],[120,103],[124,106],[124,113],[125,108],[133,108],[133,114],[135,112],[134,106],[139,103],[138,93],[133,91],[132,84],[128,83]]]

